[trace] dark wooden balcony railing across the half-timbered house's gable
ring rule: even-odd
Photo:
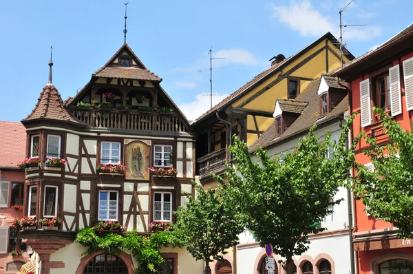
[[[138,110],[121,111],[118,109],[82,109],[73,107],[73,116],[90,127],[111,129],[137,129],[152,131],[188,131],[177,113],[139,112]]]

